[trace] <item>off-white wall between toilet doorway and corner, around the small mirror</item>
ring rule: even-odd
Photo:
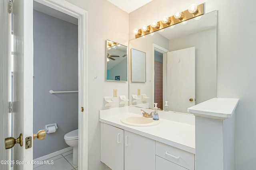
[[[106,109],[103,98],[113,98],[113,89],[128,97],[128,82],[106,81],[106,39],[128,46],[128,14],[107,0],[67,1],[88,11],[88,170],[103,170],[99,123],[99,110]],[[118,107],[118,98],[113,100],[113,107]]]

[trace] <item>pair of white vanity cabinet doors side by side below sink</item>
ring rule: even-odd
[[[101,123],[101,158],[112,170],[155,170],[155,141]]]

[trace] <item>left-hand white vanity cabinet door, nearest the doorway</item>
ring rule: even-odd
[[[124,130],[100,123],[100,160],[112,170],[124,170]]]

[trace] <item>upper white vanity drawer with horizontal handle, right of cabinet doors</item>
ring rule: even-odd
[[[190,152],[156,141],[156,155],[189,170],[195,169],[195,155]]]

